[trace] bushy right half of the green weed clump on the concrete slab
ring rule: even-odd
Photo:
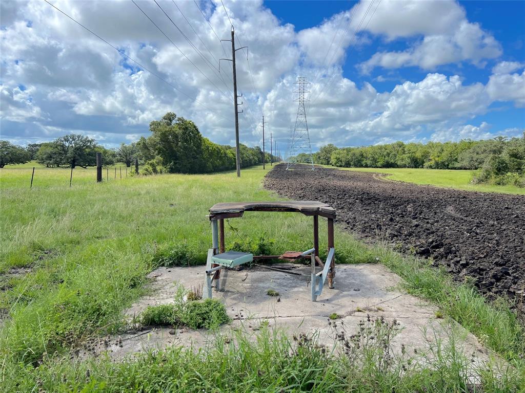
[[[229,323],[223,303],[216,299],[192,301],[186,304],[182,322],[192,329],[216,329],[223,323]]]

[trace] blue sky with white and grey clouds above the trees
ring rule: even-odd
[[[237,45],[249,46],[249,67],[241,52],[237,64],[247,145],[261,144],[264,114],[285,149],[298,76],[312,82],[314,150],[519,136],[525,128],[525,2],[224,1],[223,8],[179,0],[180,10],[159,2],[188,40],[152,1],[138,2],[142,11],[129,1],[53,3],[171,85],[48,4],[5,0],[0,135],[17,144],[80,133],[115,147],[148,136],[148,124],[167,111],[233,144],[231,69],[214,69],[229,56],[229,42],[217,39],[228,38],[229,20]]]

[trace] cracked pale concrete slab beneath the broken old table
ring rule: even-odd
[[[156,269],[149,275],[152,279],[150,295],[134,304],[126,314],[131,319],[149,305],[173,302],[177,285],[190,289],[204,283],[204,270],[204,266]],[[339,331],[344,329],[350,335],[356,333],[359,322],[366,321],[370,315],[372,319],[383,317],[387,322],[394,319],[400,322],[402,330],[393,341],[398,349],[403,344],[408,349],[422,350],[428,341],[446,341],[448,333],[454,330],[461,336],[459,346],[467,355],[475,354],[476,363],[488,360],[488,352],[475,336],[456,323],[437,319],[434,306],[395,289],[401,279],[383,265],[337,265],[336,270],[335,288],[325,285],[316,302],[310,300],[310,268],[307,266],[298,265],[293,269],[301,273],[300,276],[263,268],[223,270],[223,291],[214,290],[213,297],[225,304],[233,321],[218,333],[203,329],[156,328],[122,335],[117,344],[109,344],[106,348],[111,357],[122,358],[171,345],[202,347],[213,342],[215,334],[230,335],[234,329],[255,333],[262,321],[285,330],[290,336],[301,332],[317,333],[320,342],[331,346],[337,334],[334,322]],[[267,296],[268,289],[279,292],[279,297]],[[334,312],[341,318],[329,324],[328,317]]]

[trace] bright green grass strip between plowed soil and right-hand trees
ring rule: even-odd
[[[513,185],[491,185],[472,183],[473,170],[422,169],[422,168],[338,168],[359,172],[387,173],[386,179],[415,184],[428,184],[458,190],[500,192],[525,195],[525,189]]]

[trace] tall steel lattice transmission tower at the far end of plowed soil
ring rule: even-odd
[[[299,89],[293,92],[298,94],[297,99],[293,101],[299,102],[299,107],[297,108],[296,124],[295,127],[293,127],[290,140],[290,150],[288,153],[286,169],[290,169],[290,167],[293,165],[301,162],[309,163],[313,170],[312,145],[310,144],[308,122],[306,120],[306,108],[304,108],[304,103],[310,101],[306,97],[306,94],[310,93],[308,90],[306,90],[306,86],[309,85],[310,82],[307,82],[306,78],[304,77],[298,77],[295,84],[299,85]],[[307,155],[306,159],[297,157],[301,153],[305,153]]]

